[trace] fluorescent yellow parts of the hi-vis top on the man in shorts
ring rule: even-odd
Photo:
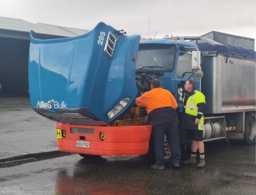
[[[194,92],[195,94],[188,97],[187,103],[184,106],[184,108],[185,108],[185,113],[191,114],[193,116],[197,116],[198,108],[196,105],[198,103],[205,103],[205,97],[200,91],[195,90]],[[198,130],[203,130],[203,127],[204,127],[204,115],[203,113],[201,114],[202,114],[202,117],[200,118],[200,121],[198,124]]]

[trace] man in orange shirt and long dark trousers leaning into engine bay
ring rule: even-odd
[[[171,164],[180,167],[180,144],[178,135],[178,117],[175,108],[177,101],[170,91],[163,89],[158,79],[151,81],[151,90],[136,98],[139,107],[146,107],[152,123],[156,162],[150,168],[165,169],[164,166],[164,135],[171,148]]]

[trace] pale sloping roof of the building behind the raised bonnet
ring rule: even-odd
[[[89,30],[54,26],[44,23],[34,24],[21,19],[0,17],[0,37],[22,38],[23,33],[23,38],[25,38],[31,30],[35,31],[36,33],[60,37],[74,37],[89,32]]]

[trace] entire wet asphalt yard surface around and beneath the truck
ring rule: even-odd
[[[205,143],[206,167],[150,169],[146,157],[59,152],[55,122],[0,98],[0,194],[255,194],[255,145]]]

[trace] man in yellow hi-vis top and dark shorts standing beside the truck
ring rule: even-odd
[[[186,94],[183,99],[184,109],[182,115],[183,129],[187,133],[187,140],[191,140],[191,156],[183,161],[184,165],[196,165],[197,149],[200,155],[198,168],[205,167],[203,126],[204,112],[206,110],[205,97],[202,92],[195,90],[195,82],[188,80],[185,83]]]

